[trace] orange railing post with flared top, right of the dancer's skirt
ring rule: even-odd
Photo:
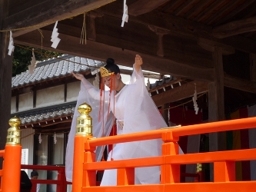
[[[171,131],[162,134],[162,156],[178,154],[178,137],[173,137]],[[180,165],[166,164],[161,166],[161,184],[173,184],[180,182]]]

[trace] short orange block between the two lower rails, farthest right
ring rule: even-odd
[[[235,161],[214,162],[214,182],[235,180]]]

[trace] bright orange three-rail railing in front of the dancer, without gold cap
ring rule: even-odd
[[[75,136],[73,190],[86,191],[250,191],[256,181],[235,181],[235,161],[256,159],[256,149],[214,151],[198,154],[178,154],[179,137],[192,134],[213,133],[256,127],[256,118],[218,121],[185,127],[145,131],[93,139],[92,136]],[[119,161],[95,162],[95,147],[131,141],[161,138],[161,157],[145,157]],[[180,183],[180,165],[213,163],[214,181]],[[161,184],[135,185],[135,167],[161,166]],[[96,170],[117,169],[117,186],[97,187]]]

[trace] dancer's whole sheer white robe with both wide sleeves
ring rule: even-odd
[[[89,114],[93,118],[93,134],[94,137],[101,137],[102,124],[98,123],[98,107],[99,91],[91,88],[90,83],[86,80],[82,81],[81,92],[78,96],[78,104],[86,101],[91,105],[92,111]],[[86,91],[85,91],[86,90]],[[86,94],[86,96],[84,95]],[[111,111],[114,112],[114,91],[111,94]],[[86,99],[84,101],[81,101]],[[91,100],[91,98],[93,98]],[[105,136],[108,136],[111,131],[112,117],[107,120],[109,92],[105,91]],[[78,106],[77,104],[77,106]],[[95,113],[95,114],[94,114]],[[76,123],[74,115],[73,122]],[[95,115],[95,117],[93,117]],[[94,119],[95,118],[95,119]],[[115,118],[117,119],[117,134],[129,134],[141,131],[156,130],[162,127],[168,127],[148,94],[145,87],[145,81],[142,71],[135,71],[131,75],[130,84],[126,85],[122,90],[115,94]],[[72,122],[72,124],[73,124]],[[123,123],[123,127],[118,123]],[[71,129],[74,129],[74,125]],[[72,130],[71,130],[72,131]],[[74,131],[73,131],[74,132]],[[71,181],[72,173],[72,157],[73,157],[73,142],[75,133],[70,133],[68,137],[68,146],[66,152],[66,177]],[[136,141],[130,143],[116,144],[112,157],[114,160],[139,158],[139,157],[155,157],[161,155],[161,139],[151,141]],[[96,151],[96,161],[101,159],[102,148]],[[108,155],[110,161],[111,152]],[[160,182],[160,167],[142,167],[135,168],[135,184],[159,184]],[[105,170],[101,185],[116,185],[116,170]]]

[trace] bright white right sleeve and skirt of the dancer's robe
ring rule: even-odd
[[[140,131],[155,130],[167,127],[154,102],[148,95],[141,71],[131,76],[131,83],[115,95],[115,118],[117,118],[117,134],[129,134]],[[111,104],[111,111],[114,106]],[[121,126],[123,125],[123,126]],[[108,155],[114,160],[153,157],[161,155],[161,140],[137,141],[116,144]],[[158,184],[160,167],[135,168],[135,184]],[[116,185],[117,171],[105,170],[101,186]]]

